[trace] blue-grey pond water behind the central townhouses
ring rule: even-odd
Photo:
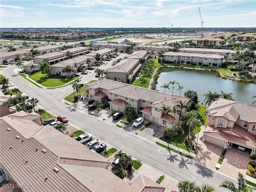
[[[174,84],[173,94],[184,96],[187,90],[194,90],[198,94],[199,102],[204,102],[204,94],[208,91],[221,93],[233,93],[232,98],[235,101],[252,104],[256,98],[256,83],[246,83],[233,80],[226,80],[216,76],[216,72],[205,70],[194,70],[185,68],[163,68],[156,85],[156,89],[164,92],[164,88],[160,87],[170,81],[176,81],[184,88],[180,91],[178,84]],[[166,92],[172,93],[172,84],[170,90]]]

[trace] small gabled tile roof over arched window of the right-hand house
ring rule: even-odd
[[[236,122],[239,117],[239,113],[235,110],[234,107],[229,106],[226,108],[221,108],[220,110],[215,110],[209,112],[209,115],[214,117],[224,117],[230,121]]]

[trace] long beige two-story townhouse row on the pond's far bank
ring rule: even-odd
[[[162,55],[163,62],[196,64],[208,66],[220,66],[223,55],[220,54],[199,54],[199,53],[182,53],[182,52],[166,52]]]

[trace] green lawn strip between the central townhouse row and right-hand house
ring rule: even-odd
[[[200,114],[202,115],[202,119],[201,119],[201,122],[202,124],[204,125],[205,124],[205,121],[206,121],[206,115],[204,114],[206,112],[206,106],[204,105],[200,105],[200,109],[199,109],[199,112]],[[168,142],[172,145],[175,145],[179,148],[182,148],[182,149],[185,149],[185,150],[188,150],[188,151],[193,151],[194,149],[192,148],[188,148],[185,143],[184,143],[184,139],[188,136],[188,130],[189,130],[189,126],[186,124],[186,122],[184,122],[182,125],[181,125],[182,129],[184,130],[184,134],[178,138],[169,138],[169,139],[166,139],[164,137],[160,137],[161,140],[165,141],[165,142]],[[194,134],[197,134],[198,131],[201,130],[201,128],[199,126],[196,126],[194,128],[194,131],[193,133]]]

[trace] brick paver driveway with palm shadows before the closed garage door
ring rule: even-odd
[[[193,158],[193,160],[215,169],[223,148],[212,143],[202,142],[201,140],[200,144],[200,150],[197,152],[196,157]]]

